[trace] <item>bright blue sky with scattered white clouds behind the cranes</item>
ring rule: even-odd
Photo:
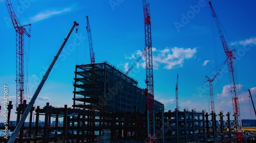
[[[26,18],[19,11],[16,1],[12,3],[20,23],[25,24]],[[108,61],[126,71],[143,51],[145,42],[142,1],[110,0],[99,3],[24,0],[20,3],[32,23],[30,48],[28,39],[25,39],[30,96],[33,96],[73,21],[80,24],[78,34],[72,33],[35,105],[42,107],[50,102],[53,106],[62,107],[67,104],[71,107],[75,65],[90,63],[87,15],[90,19],[96,63]],[[208,1],[162,0],[150,3],[155,99],[164,103],[166,110],[175,109],[175,84],[179,74],[180,109],[209,111],[208,83],[204,82],[204,78],[205,75],[214,76],[216,66],[225,61],[225,53],[216,26],[212,23]],[[9,100],[15,102],[15,31],[4,1],[0,0],[0,4],[0,30],[3,34],[0,39],[0,83],[2,86],[8,85]],[[230,39],[229,41],[226,38],[229,48],[236,48],[237,51],[236,72],[242,119],[256,118],[251,103],[251,108],[249,106],[247,92],[247,89],[251,89],[253,98],[256,96],[254,5],[255,1],[212,1],[212,6]],[[139,81],[141,88],[145,88],[143,63],[144,59],[129,73]],[[222,70],[214,82],[217,112],[233,112],[228,84],[228,73]],[[0,100],[3,115],[3,97]],[[14,110],[12,115],[14,120]],[[4,120],[3,116],[0,119]]]

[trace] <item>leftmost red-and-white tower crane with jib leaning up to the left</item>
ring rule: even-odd
[[[5,4],[12,20],[16,32],[16,106],[23,104],[24,100],[24,34],[31,37],[31,24],[20,25],[19,20],[13,10],[10,0],[5,0]],[[29,30],[26,30],[26,26]]]

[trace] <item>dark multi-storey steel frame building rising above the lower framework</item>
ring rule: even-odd
[[[73,108],[108,112],[146,112],[145,89],[107,62],[77,65]],[[156,111],[164,105],[155,100]]]

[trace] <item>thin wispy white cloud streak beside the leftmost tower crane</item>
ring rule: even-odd
[[[66,8],[66,9],[62,9],[62,10],[47,10],[44,12],[40,12],[37,15],[33,16],[30,18],[31,22],[37,22],[40,20],[44,20],[47,18],[50,18],[51,16],[57,15],[57,14],[61,14],[61,13],[65,13],[65,12],[70,12],[71,8]]]

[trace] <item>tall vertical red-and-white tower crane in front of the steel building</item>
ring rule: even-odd
[[[143,2],[144,27],[145,27],[145,60],[146,60],[146,99],[147,99],[147,135],[148,141],[155,138],[155,101],[153,80],[153,54],[151,35],[150,4]]]

